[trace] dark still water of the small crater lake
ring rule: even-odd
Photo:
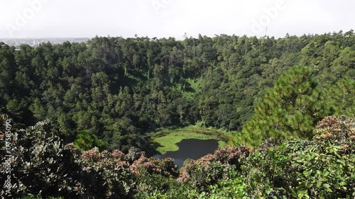
[[[179,147],[178,151],[156,155],[155,158],[171,157],[176,165],[182,167],[186,159],[199,159],[207,154],[213,154],[214,150],[218,148],[218,140],[187,139],[182,140],[177,145]]]

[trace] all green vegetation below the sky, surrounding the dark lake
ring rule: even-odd
[[[353,30],[1,42],[1,195],[354,198],[354,55]],[[181,130],[232,146],[146,156]]]

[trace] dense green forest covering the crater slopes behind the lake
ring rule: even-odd
[[[18,127],[50,120],[67,142],[82,137],[104,146],[104,140],[124,152],[145,148],[144,132],[158,127],[199,123],[240,131],[246,125],[253,134],[244,141],[256,136],[255,145],[266,137],[253,130],[260,130],[261,118],[270,125],[273,116],[292,113],[275,130],[302,128],[297,136],[312,137],[307,133],[324,116],[355,113],[353,30],[279,39],[96,37],[19,49],[0,43],[0,60],[0,112]],[[281,76],[295,65],[307,69]],[[300,118],[303,127],[289,125]]]

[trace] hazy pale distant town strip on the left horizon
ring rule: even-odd
[[[90,38],[0,38],[0,42],[4,42],[7,45],[20,47],[20,45],[27,44],[33,47],[37,47],[43,42],[50,42],[53,45],[60,44],[66,41],[69,42],[87,42]]]

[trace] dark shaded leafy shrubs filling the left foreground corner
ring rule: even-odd
[[[1,129],[8,116],[1,115]],[[1,150],[0,182],[5,184],[6,168],[11,166],[11,198],[131,198],[134,193],[133,174],[122,152],[102,152],[97,148],[80,155],[72,144],[64,145],[53,125],[37,123],[26,130],[11,129],[8,159]],[[10,144],[10,145],[9,145]]]

